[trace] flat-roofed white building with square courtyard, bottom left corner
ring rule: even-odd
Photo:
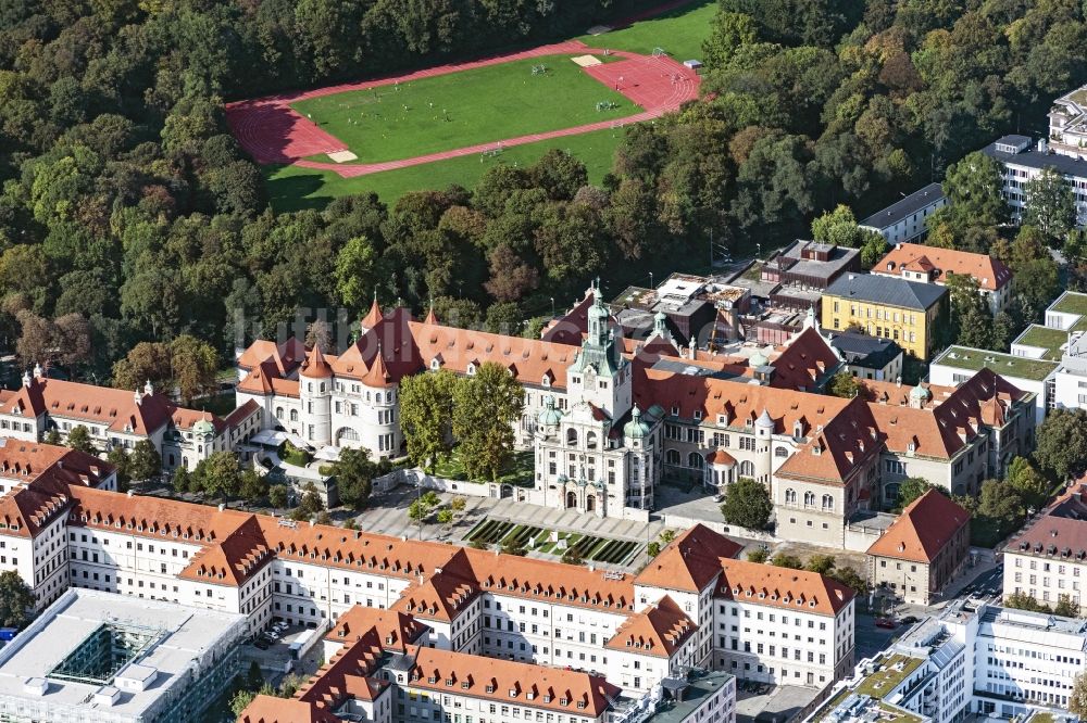
[[[0,649],[0,723],[188,723],[239,673],[245,616],[72,588]]]

